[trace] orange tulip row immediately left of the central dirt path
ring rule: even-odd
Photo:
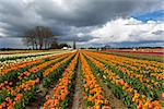
[[[43,106],[43,109],[68,108],[69,100],[71,99],[69,97],[69,93],[71,86],[73,85],[72,80],[75,77],[74,73],[78,63],[78,58],[79,52],[75,55],[75,57],[65,70],[62,77],[59,78],[59,83],[52,89],[52,93],[50,95],[46,95],[46,101]]]

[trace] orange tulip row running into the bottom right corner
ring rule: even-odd
[[[147,96],[144,94],[140,94],[139,87],[136,85],[131,85],[133,83],[131,80],[127,83],[127,76],[119,76],[113,68],[107,68],[104,64],[103,59],[97,58],[91,52],[84,52],[87,59],[99,70],[99,74],[104,78],[105,83],[112,87],[113,92],[121,99],[124,99],[125,104],[132,108],[147,109],[147,108],[155,108],[161,109],[162,106],[160,101],[155,98]],[[101,57],[101,56],[99,56]],[[106,62],[107,63],[107,62]],[[93,65],[93,66],[94,66]],[[122,75],[125,75],[122,73]],[[140,86],[141,88],[142,86]],[[150,92],[148,92],[150,93]],[[154,93],[154,92],[153,92]]]

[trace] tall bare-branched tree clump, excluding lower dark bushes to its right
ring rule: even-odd
[[[25,45],[32,46],[33,49],[37,49],[37,47],[43,49],[44,46],[45,49],[48,49],[50,39],[52,37],[55,36],[52,35],[52,31],[49,27],[36,26],[35,28],[30,29],[24,34],[23,41]]]

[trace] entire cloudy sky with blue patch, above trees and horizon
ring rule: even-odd
[[[164,46],[164,0],[0,0],[0,48],[36,25],[79,47]]]

